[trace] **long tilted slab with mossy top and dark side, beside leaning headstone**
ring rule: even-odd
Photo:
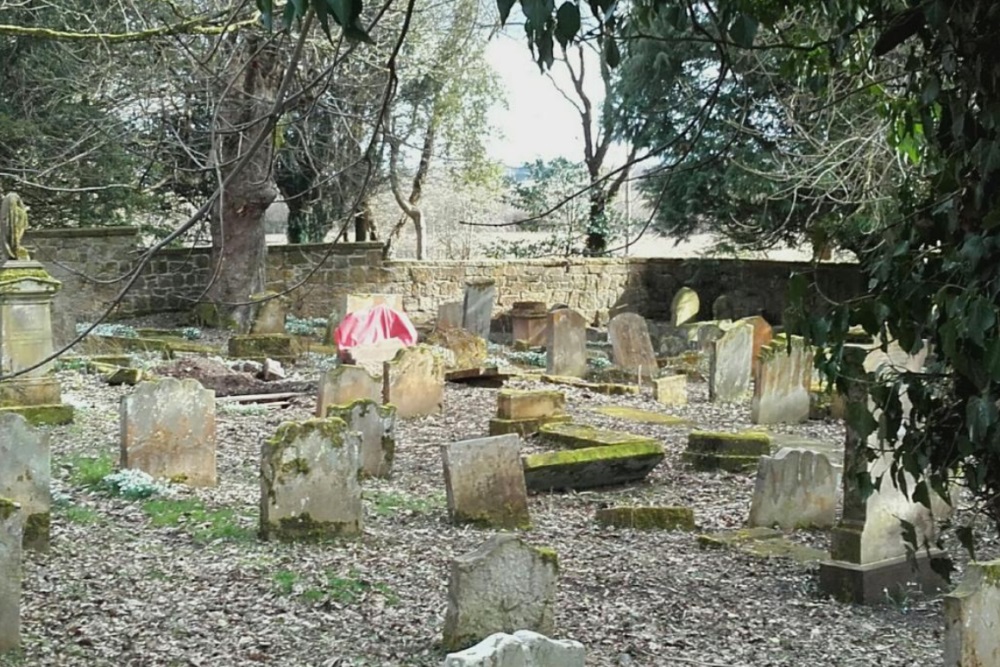
[[[629,484],[645,479],[663,456],[658,442],[529,454],[522,458],[524,481],[535,493]]]

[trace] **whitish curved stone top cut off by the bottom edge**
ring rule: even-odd
[[[584,667],[583,644],[549,639],[530,630],[490,635],[475,646],[449,653],[443,667]]]

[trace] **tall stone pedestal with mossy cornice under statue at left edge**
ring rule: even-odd
[[[34,424],[66,424],[73,409],[63,405],[51,363],[32,368],[54,351],[52,298],[61,283],[38,262],[0,265],[0,410],[17,412]]]

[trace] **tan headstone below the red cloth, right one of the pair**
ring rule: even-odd
[[[441,412],[444,361],[425,345],[400,350],[383,367],[382,402],[395,405],[401,419]]]

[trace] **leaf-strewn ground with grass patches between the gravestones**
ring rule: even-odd
[[[117,456],[118,400],[129,388],[74,372],[60,379],[77,419],[52,429],[61,497],[52,550],[26,555],[23,653],[0,664],[440,665],[449,560],[489,533],[447,523],[438,446],[482,435],[496,390],[449,385],[443,414],[401,424],[393,478],[365,483],[363,539],[287,545],[254,537],[258,453],[281,421],[311,415],[311,398],[280,409],[220,407],[219,486],[173,491],[204,509],[154,525],[145,501],[79,482],[81,457]],[[689,405],[670,410],[693,425],[678,427],[592,411],[662,410],[649,395],[566,389],[576,421],[654,436],[667,457],[641,485],[531,497],[534,527],[524,537],[560,558],[556,636],[582,641],[588,665],[939,664],[937,601],[843,605],[818,597],[814,566],[703,551],[689,533],[594,524],[595,508],[618,503],[688,505],[706,530],[744,524],[751,475],[693,473],[680,462],[690,428],[750,426],[748,405],[715,406],[706,393],[694,384]],[[781,430],[843,437],[832,423]]]

